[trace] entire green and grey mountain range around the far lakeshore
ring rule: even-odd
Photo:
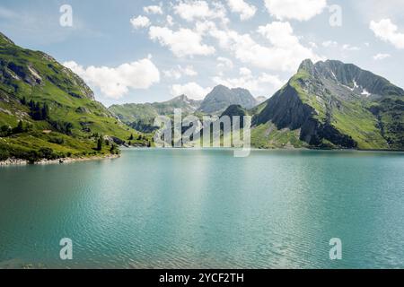
[[[356,65],[305,60],[268,100],[219,85],[204,100],[181,95],[107,109],[71,70],[0,33],[0,161],[109,154],[114,143],[151,146],[154,118],[174,109],[250,115],[258,148],[404,150],[404,91]]]

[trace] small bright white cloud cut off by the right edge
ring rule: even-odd
[[[399,27],[390,19],[382,19],[379,22],[372,21],[370,29],[373,30],[377,38],[391,43],[395,48],[404,48],[404,33],[400,33]]]

